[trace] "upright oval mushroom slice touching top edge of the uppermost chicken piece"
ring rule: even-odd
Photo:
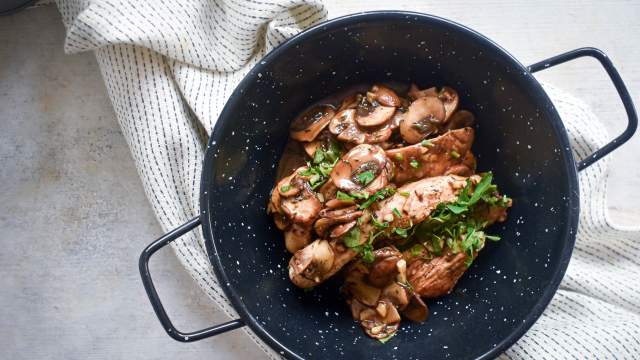
[[[416,144],[438,131],[445,119],[445,109],[437,97],[422,97],[411,103],[400,123],[400,135],[409,144]]]

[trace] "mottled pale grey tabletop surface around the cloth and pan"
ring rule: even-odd
[[[601,47],[640,103],[638,3],[416,3],[394,7],[437,10],[524,63]],[[332,16],[363,10],[355,0],[329,8]],[[159,226],[93,55],[66,56],[63,40],[54,7],[0,18],[0,359],[261,358],[238,331],[179,344],[160,328],[137,272],[138,254]],[[622,127],[613,89],[593,62],[541,78],[593,104],[612,132]],[[622,223],[640,220],[639,152],[640,136],[612,157],[610,204]],[[152,272],[179,328],[226,320],[170,251],[156,256]]]

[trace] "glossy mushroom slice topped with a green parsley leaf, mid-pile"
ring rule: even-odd
[[[329,176],[343,191],[371,195],[387,186],[393,175],[392,170],[391,161],[381,147],[362,144],[346,153]]]

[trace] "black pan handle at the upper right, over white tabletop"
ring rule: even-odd
[[[617,149],[618,146],[624,144],[631,138],[633,133],[635,133],[636,128],[638,127],[638,115],[636,114],[636,109],[633,106],[633,101],[631,100],[631,96],[629,95],[629,91],[622,81],[618,70],[616,70],[615,66],[609,59],[609,57],[603,53],[601,50],[592,47],[584,47],[580,49],[575,49],[568,51],[564,54],[556,55],[554,57],[548,58],[546,60],[542,60],[533,65],[530,65],[527,69],[531,73],[538,72],[540,70],[548,69],[552,66],[560,65],[570,60],[574,60],[583,56],[591,56],[597,59],[600,64],[604,67],[609,75],[609,78],[613,82],[613,85],[616,87],[618,91],[618,95],[620,96],[620,100],[622,100],[622,105],[624,105],[624,109],[627,112],[628,124],[627,128],[624,130],[620,136],[613,139],[607,145],[602,148],[596,150],[593,154],[585,157],[580,163],[578,163],[578,171],[584,170],[589,167],[594,162],[600,160],[603,156],[606,156],[613,150]]]

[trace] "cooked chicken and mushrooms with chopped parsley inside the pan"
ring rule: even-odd
[[[342,276],[367,335],[385,341],[402,318],[425,321],[504,221],[511,199],[477,173],[474,115],[450,87],[375,84],[298,115],[268,212],[310,289]]]

